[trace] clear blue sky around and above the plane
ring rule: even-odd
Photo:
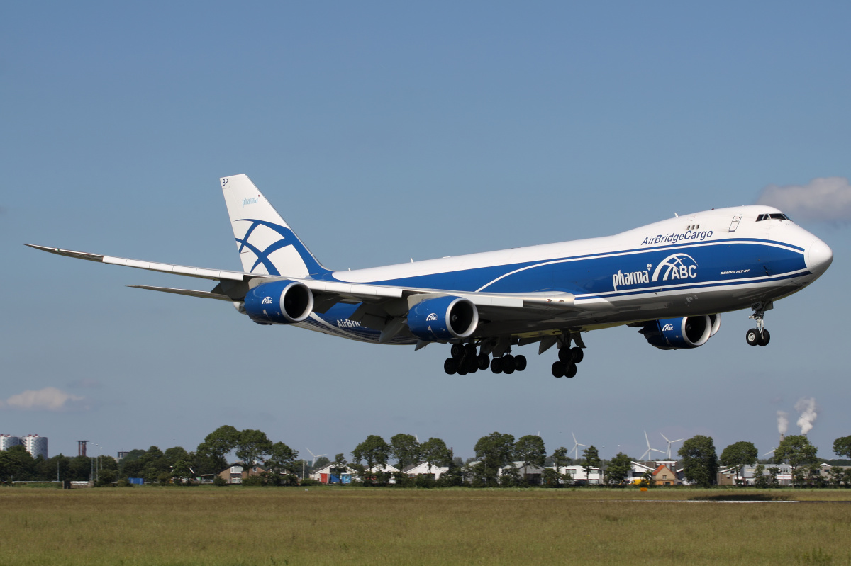
[[[847,3],[0,9],[0,433],[114,455],[231,424],[333,456],[404,432],[467,457],[494,431],[549,451],[574,432],[608,457],[639,456],[646,429],[762,453],[777,411],[796,432],[814,398],[820,456],[851,434]],[[331,269],[608,235],[818,178],[812,210],[770,198],[835,260],[768,313],[768,348],[745,312],[691,351],[598,331],[557,380],[534,351],[523,373],[446,376],[448,348],[260,327],[125,287],[203,281],[21,246],[238,269],[218,184],[235,173]]]

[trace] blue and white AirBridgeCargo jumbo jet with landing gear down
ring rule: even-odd
[[[71,258],[215,280],[212,291],[135,286],[233,303],[260,325],[378,342],[451,344],[443,369],[526,368],[515,348],[557,346],[556,377],[576,375],[582,333],[638,328],[656,348],[698,348],[721,313],[750,308],[751,345],[774,301],[825,272],[833,252],[776,208],[696,212],[617,235],[352,271],[331,271],[246,175],[220,179],[243,271],[168,265],[57,247]]]

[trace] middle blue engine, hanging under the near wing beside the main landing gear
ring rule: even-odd
[[[476,305],[462,297],[427,299],[408,311],[411,333],[429,342],[469,337],[477,325]]]

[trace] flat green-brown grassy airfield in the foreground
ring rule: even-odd
[[[851,490],[21,487],[0,533],[16,566],[851,564]]]

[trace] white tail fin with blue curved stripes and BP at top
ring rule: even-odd
[[[243,271],[289,277],[328,273],[248,175],[219,180]]]

